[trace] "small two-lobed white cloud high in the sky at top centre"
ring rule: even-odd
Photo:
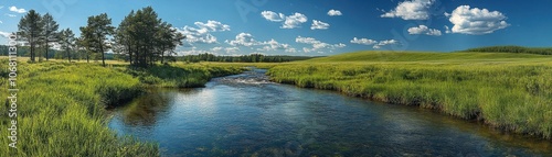
[[[261,15],[267,21],[272,22],[283,22],[282,29],[296,29],[300,27],[302,23],[307,22],[307,16],[301,13],[294,13],[291,15],[286,16],[284,13],[276,13],[273,11],[263,11]]]

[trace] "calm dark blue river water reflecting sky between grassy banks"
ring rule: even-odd
[[[552,156],[550,141],[434,111],[272,83],[264,70],[151,89],[114,109],[119,135],[162,156]]]

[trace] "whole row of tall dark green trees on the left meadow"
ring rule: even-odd
[[[21,18],[18,29],[18,36],[29,45],[31,63],[36,61],[36,56],[42,60],[42,52],[46,60],[51,58],[50,45],[57,43],[68,61],[77,54],[85,56],[87,61],[100,56],[105,66],[106,53],[113,51],[132,66],[148,67],[174,55],[174,49],[185,38],[170,23],[159,19],[151,7],[131,11],[118,27],[112,25],[106,13],[89,16],[87,25],[79,27],[78,37],[71,29],[59,30],[60,25],[49,13],[41,15],[34,10]]]

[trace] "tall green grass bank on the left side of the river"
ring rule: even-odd
[[[8,63],[0,61],[0,85],[8,88]],[[2,113],[0,156],[159,156],[157,144],[117,137],[107,126],[106,105],[118,105],[146,86],[199,87],[211,77],[240,72],[209,65],[127,69],[96,64],[18,65],[18,149],[8,147],[10,120]],[[151,81],[155,80],[155,81]],[[0,92],[2,98],[8,93]],[[6,101],[6,100],[4,100]],[[7,105],[0,106],[7,111]]]

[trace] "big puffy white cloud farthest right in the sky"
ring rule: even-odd
[[[510,25],[505,21],[506,15],[499,11],[471,9],[469,5],[460,5],[453,13],[445,13],[445,15],[450,16],[448,20],[454,24],[452,33],[489,34]]]

